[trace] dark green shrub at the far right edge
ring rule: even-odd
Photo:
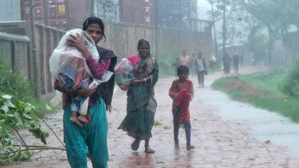
[[[289,72],[278,88],[287,96],[299,98],[299,62],[296,63],[296,66]]]

